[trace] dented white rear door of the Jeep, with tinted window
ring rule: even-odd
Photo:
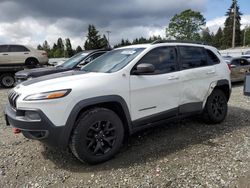
[[[210,84],[216,81],[219,59],[203,47],[180,46],[181,97],[180,113],[202,110]]]

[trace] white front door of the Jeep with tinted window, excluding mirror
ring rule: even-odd
[[[178,113],[180,88],[179,66],[175,46],[158,47],[148,52],[139,64],[152,64],[152,74],[133,74],[130,76],[131,118],[138,124],[143,118],[158,121]],[[146,118],[145,118],[146,117]],[[136,123],[135,123],[136,124]]]

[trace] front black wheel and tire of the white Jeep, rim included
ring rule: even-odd
[[[97,164],[111,159],[121,148],[123,138],[118,115],[109,109],[93,108],[76,121],[70,149],[81,162]]]

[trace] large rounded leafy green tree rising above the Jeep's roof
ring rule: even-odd
[[[177,40],[197,40],[205,24],[205,18],[200,12],[188,9],[171,18],[166,28],[166,37]]]

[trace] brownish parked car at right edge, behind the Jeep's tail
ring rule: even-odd
[[[250,61],[246,58],[233,58],[229,63],[231,67],[231,81],[244,81],[245,75],[250,72]]]

